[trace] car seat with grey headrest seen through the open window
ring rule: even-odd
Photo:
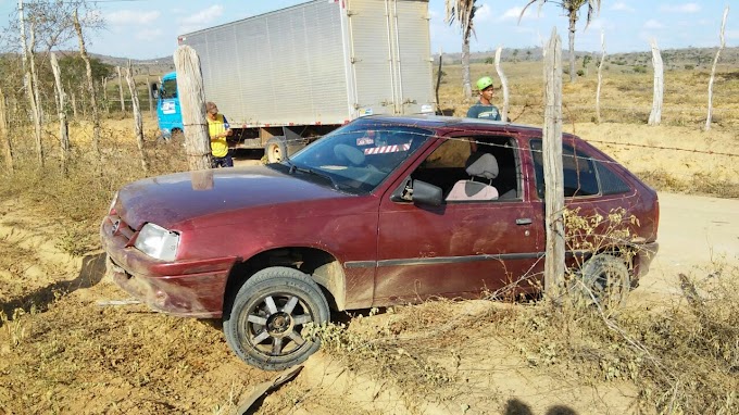
[[[498,189],[491,185],[492,179],[498,177],[499,173],[498,161],[494,155],[473,153],[467,160],[466,172],[471,176],[469,179],[456,181],[447,194],[447,201],[464,202],[498,199]],[[475,181],[475,178],[480,181]]]

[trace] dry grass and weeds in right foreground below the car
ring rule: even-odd
[[[405,402],[450,408],[474,402],[479,408],[487,400],[503,407],[505,394],[481,387],[479,379],[508,370],[509,385],[517,385],[527,381],[522,372],[530,370],[528,381],[550,376],[597,390],[632,385],[630,413],[734,414],[739,411],[739,269],[725,272],[691,282],[700,297],[686,293],[682,302],[660,311],[631,307],[606,316],[550,302],[473,302],[471,307],[429,301],[377,319],[354,317],[348,329],[329,326],[320,336],[325,353],[400,390]],[[515,368],[490,366],[500,354]]]

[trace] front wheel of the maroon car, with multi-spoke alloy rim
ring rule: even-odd
[[[239,289],[224,313],[228,345],[250,365],[281,370],[304,362],[321,345],[301,332],[308,323],[328,322],[321,287],[298,269],[262,269]]]

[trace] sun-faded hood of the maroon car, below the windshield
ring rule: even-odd
[[[134,229],[165,228],[245,208],[347,198],[328,187],[265,166],[218,168],[147,178],[118,191],[115,210]]]

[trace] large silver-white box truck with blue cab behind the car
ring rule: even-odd
[[[314,0],[178,41],[200,56],[234,147],[273,162],[359,116],[434,113],[428,22],[428,0]],[[165,134],[183,128],[172,89],[159,91]]]

